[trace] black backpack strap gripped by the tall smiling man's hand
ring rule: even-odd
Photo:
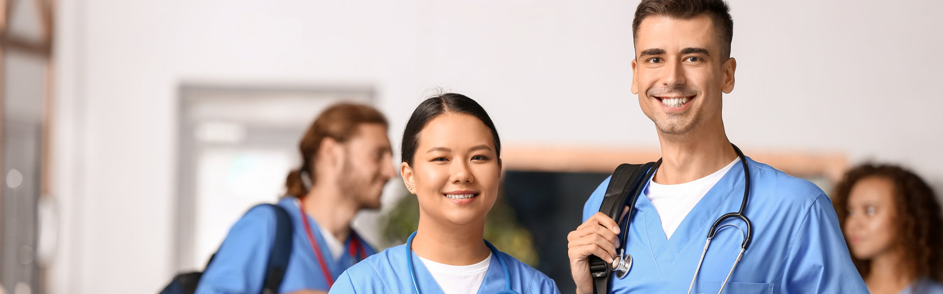
[[[661,161],[658,163],[660,162]],[[603,204],[600,205],[599,211],[609,216],[610,219],[619,221],[622,207],[626,205],[635,207],[638,199],[637,196],[642,192],[642,188],[645,187],[645,185],[641,184],[644,184],[645,181],[648,180],[651,173],[657,168],[656,165],[657,163],[655,162],[646,164],[623,163],[616,168],[616,171],[612,172],[612,177],[609,179],[609,186],[605,189]],[[627,204],[627,200],[631,200],[631,203]],[[631,220],[631,218],[632,209],[629,209],[629,212],[625,215],[625,219]],[[628,232],[623,231],[622,234],[628,234]],[[622,246],[625,246],[625,244],[622,244]],[[589,274],[592,275],[593,292],[596,294],[608,293],[609,276],[612,275],[612,268],[609,264],[596,255],[590,255]]]

